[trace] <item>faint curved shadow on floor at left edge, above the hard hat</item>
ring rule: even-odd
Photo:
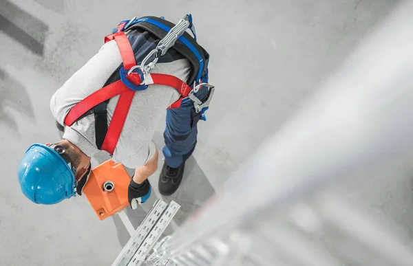
[[[0,126],[5,126],[6,129],[11,130],[13,134],[19,137],[19,125],[8,113],[8,108],[22,113],[30,120],[34,120],[32,102],[25,87],[0,68]]]

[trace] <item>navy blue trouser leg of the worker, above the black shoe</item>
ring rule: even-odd
[[[194,95],[200,99],[208,94],[208,88],[202,87]],[[201,113],[196,113],[193,101],[187,99],[177,109],[167,110],[167,126],[164,132],[165,146],[162,152],[169,167],[182,165],[195,150]]]

